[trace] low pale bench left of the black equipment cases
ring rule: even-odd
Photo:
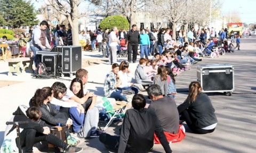
[[[8,75],[12,75],[12,72],[17,73],[17,75],[21,73],[26,73],[26,70],[30,70],[30,73],[34,73],[32,68],[33,65],[33,58],[30,57],[20,57],[20,58],[10,58],[7,59],[9,65],[9,72]],[[20,72],[21,68],[21,72]]]

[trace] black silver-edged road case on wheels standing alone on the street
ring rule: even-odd
[[[235,91],[234,66],[198,65],[197,81],[201,83],[203,92],[225,92],[231,96],[231,92]]]

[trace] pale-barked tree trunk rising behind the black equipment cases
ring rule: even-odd
[[[52,7],[59,13],[66,16],[71,29],[73,45],[79,45],[78,40],[78,6],[82,0],[48,0]]]

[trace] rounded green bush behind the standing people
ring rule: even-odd
[[[117,27],[117,29],[129,29],[129,22],[126,18],[120,15],[112,15],[108,16],[107,18],[103,19],[100,24],[99,28],[105,30],[107,28],[112,29],[113,27]]]

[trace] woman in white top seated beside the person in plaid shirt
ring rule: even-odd
[[[129,63],[126,61],[122,61],[119,65],[119,79],[121,80],[120,86],[117,88],[118,90],[133,90],[134,94],[138,94],[139,90],[136,87],[133,87],[134,83],[132,81],[131,70],[129,69]],[[143,88],[143,87],[141,87]]]

